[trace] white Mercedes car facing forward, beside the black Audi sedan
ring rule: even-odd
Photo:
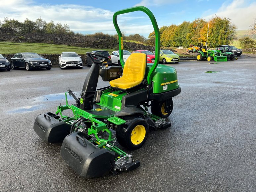
[[[82,69],[83,62],[80,57],[76,52],[62,52],[59,56],[59,66],[61,69],[75,67]]]

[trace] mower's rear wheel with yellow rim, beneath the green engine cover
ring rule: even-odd
[[[173,111],[173,99],[171,99],[170,101],[171,103],[171,110],[169,113],[165,113],[164,112],[164,107],[165,107],[165,101],[161,101],[161,102],[153,102],[153,105],[150,107],[151,109],[151,113],[153,115],[156,115],[158,117],[161,118],[167,118],[171,115],[172,111]]]

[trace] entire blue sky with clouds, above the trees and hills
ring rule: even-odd
[[[254,0],[0,0],[0,21],[4,17],[24,21],[41,17],[49,22],[69,24],[75,32],[115,34],[113,14],[121,9],[143,5],[156,17],[159,28],[163,25],[180,24],[196,18],[228,17],[238,30],[248,29],[256,18]],[[19,5],[19,6],[17,6]],[[121,31],[127,35],[139,33],[148,37],[153,31],[147,16],[142,12],[118,16]]]

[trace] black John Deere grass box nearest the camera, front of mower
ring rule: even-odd
[[[98,148],[82,132],[74,132],[65,137],[61,146],[61,156],[81,177],[91,179],[109,174],[113,169],[115,152]]]

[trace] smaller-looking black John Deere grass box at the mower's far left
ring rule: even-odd
[[[48,143],[61,143],[70,133],[71,125],[64,121],[58,121],[49,114],[51,113],[40,114],[36,117],[34,131]]]

